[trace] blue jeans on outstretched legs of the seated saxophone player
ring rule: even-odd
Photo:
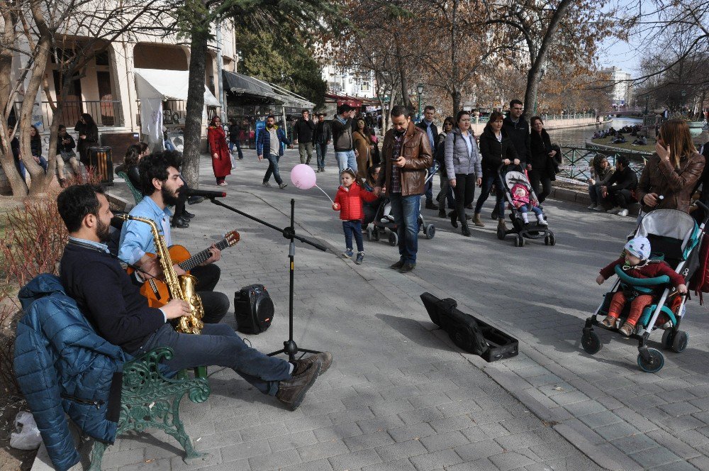
[[[204,324],[199,336],[177,333],[172,326],[165,324],[132,354],[138,356],[157,347],[169,347],[174,351],[172,360],[165,362],[170,370],[198,366],[228,367],[269,396],[276,395],[280,381],[291,379],[289,362],[268,357],[247,346],[233,328],[223,323]]]

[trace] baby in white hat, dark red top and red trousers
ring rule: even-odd
[[[596,278],[596,283],[603,284],[606,279],[615,275],[615,267],[620,265],[623,267],[626,275],[634,278],[654,278],[661,275],[669,277],[671,283],[676,287],[677,292],[684,294],[687,292],[684,278],[679,273],[664,261],[650,259],[650,241],[645,237],[632,238],[625,244],[623,256],[610,263],[601,270],[601,274]],[[627,301],[630,301],[630,314],[628,314],[625,323],[620,327],[620,333],[624,336],[630,336],[635,331],[635,324],[642,315],[645,307],[653,304],[654,296],[652,290],[640,292],[639,289],[625,287],[613,294],[610,300],[608,316],[603,320],[603,325],[613,328],[618,321],[620,314],[623,312],[623,307]],[[659,321],[657,324],[661,325]],[[657,325],[656,324],[656,325]]]

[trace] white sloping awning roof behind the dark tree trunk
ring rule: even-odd
[[[189,87],[189,71],[133,69],[138,99],[186,100]],[[204,104],[220,106],[219,100],[204,87]]]

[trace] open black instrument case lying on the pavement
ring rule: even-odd
[[[486,362],[518,355],[516,338],[460,311],[454,299],[438,299],[430,293],[423,293],[421,301],[431,321],[442,328],[458,348],[480,355]]]

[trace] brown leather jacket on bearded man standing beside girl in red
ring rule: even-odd
[[[391,162],[398,159],[398,155],[391,155],[394,145],[394,130],[386,131],[384,144],[382,145],[381,171],[377,187],[386,187],[386,196],[389,196],[391,186]],[[406,159],[406,163],[401,167],[401,196],[411,196],[413,194],[423,194],[425,191],[426,170],[433,165],[433,154],[428,135],[425,131],[417,128],[413,121],[408,123],[408,129],[403,136],[401,143],[401,155]]]

